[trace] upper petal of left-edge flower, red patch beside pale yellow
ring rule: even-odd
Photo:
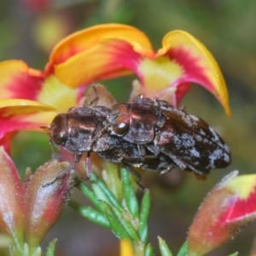
[[[26,99],[67,111],[79,100],[79,90],[73,90],[56,79],[54,73],[32,69],[24,61],[0,62],[2,99]]]

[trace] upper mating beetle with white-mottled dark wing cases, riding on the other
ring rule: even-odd
[[[202,178],[230,164],[230,148],[206,121],[158,98],[139,95],[118,103],[107,120],[112,135],[152,154],[166,154],[180,169]]]

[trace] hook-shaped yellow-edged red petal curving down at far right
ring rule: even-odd
[[[169,55],[183,67],[183,77],[177,83],[201,84],[218,98],[226,114],[230,116],[229,96],[223,75],[212,54],[200,41],[188,32],[169,32],[163,39],[163,48],[157,55]]]

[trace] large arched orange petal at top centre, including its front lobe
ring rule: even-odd
[[[119,24],[92,26],[58,44],[46,69],[50,72],[55,65],[57,78],[77,87],[131,73],[130,66],[134,65],[135,57],[153,54],[148,38],[135,27]]]

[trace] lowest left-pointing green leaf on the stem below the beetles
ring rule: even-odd
[[[99,201],[99,203],[101,202]],[[110,229],[108,219],[104,216],[102,212],[98,212],[91,207],[85,207],[84,205],[79,204],[76,201],[69,201],[69,206],[72,207],[76,212],[79,212],[84,218],[88,218],[90,221]]]

